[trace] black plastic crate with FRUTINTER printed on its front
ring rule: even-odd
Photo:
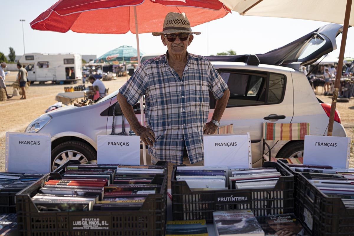
[[[294,176],[276,162],[263,164],[283,175],[273,189],[192,191],[185,181],[176,180],[176,167],[171,176],[173,220],[212,223],[214,211],[230,209],[251,209],[255,216],[294,212]]]

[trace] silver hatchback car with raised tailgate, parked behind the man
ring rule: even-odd
[[[298,69],[333,50],[335,46],[332,36],[335,40],[341,27],[338,24],[321,27],[289,45],[270,51],[269,56],[265,53],[258,54],[258,57],[210,57],[230,90],[221,126],[233,124],[235,134],[250,132],[254,167],[262,163],[263,122],[309,122],[311,135],[322,136],[327,133],[331,105],[316,98],[307,77]],[[51,134],[53,169],[68,159],[82,163],[96,160],[97,136],[108,135],[112,131],[113,109],[117,104],[118,92],[114,91],[92,105],[71,105],[50,111],[32,121],[25,132]],[[211,95],[208,120],[212,117],[215,104],[216,100]],[[139,103],[133,109],[140,122]],[[82,117],[87,117],[85,122]],[[115,133],[121,132],[121,119],[121,114],[116,113]],[[125,122],[126,133],[129,130],[129,123]],[[333,124],[333,136],[347,136],[338,111]],[[303,154],[303,140],[274,141],[268,144],[275,157],[289,158]]]

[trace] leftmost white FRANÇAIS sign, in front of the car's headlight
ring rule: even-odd
[[[6,132],[5,138],[6,172],[51,172],[50,134]]]

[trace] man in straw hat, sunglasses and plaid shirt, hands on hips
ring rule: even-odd
[[[202,166],[203,134],[215,133],[230,92],[209,60],[187,52],[193,34],[200,32],[192,32],[184,13],[168,13],[162,30],[153,35],[161,36],[166,54],[145,61],[117,99],[133,131],[149,146],[152,163]],[[209,122],[208,90],[217,99]],[[147,127],[140,125],[132,108],[143,95]]]

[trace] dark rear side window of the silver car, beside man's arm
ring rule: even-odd
[[[258,71],[223,71],[219,74],[230,90],[227,107],[280,103],[284,96],[285,76]]]

